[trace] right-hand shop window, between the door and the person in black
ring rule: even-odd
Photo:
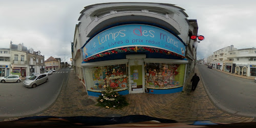
[[[185,75],[184,64],[146,63],[146,88],[170,89],[182,87]]]

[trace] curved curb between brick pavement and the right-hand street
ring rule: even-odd
[[[198,68],[198,66],[197,66]],[[201,77],[201,72],[200,70],[198,69],[198,72],[200,74],[200,77]],[[241,78],[241,77],[240,77]],[[209,97],[210,101],[212,102],[212,104],[214,104],[219,110],[223,111],[223,112],[226,112],[230,115],[233,115],[233,116],[242,116],[242,117],[249,117],[249,118],[254,118],[256,117],[256,115],[254,114],[247,114],[247,113],[241,113],[241,112],[238,112],[238,111],[233,111],[233,110],[230,110],[228,108],[226,108],[225,106],[221,105],[211,94],[210,92],[208,91],[207,87],[205,86],[205,82],[203,80],[203,78],[201,77],[202,79],[202,83],[203,83],[203,87],[204,87],[204,90],[207,94],[207,96]]]

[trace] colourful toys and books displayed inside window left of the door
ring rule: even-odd
[[[93,67],[91,90],[104,90],[108,85],[114,90],[127,88],[126,65]]]

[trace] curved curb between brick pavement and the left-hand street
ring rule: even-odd
[[[70,73],[71,73],[71,71],[70,71]],[[70,73],[69,73],[69,75],[68,75],[68,79],[66,80],[67,82],[66,82],[66,84],[65,84],[65,88],[67,87],[67,84],[68,84],[68,81],[69,81]],[[36,112],[36,113],[34,113],[34,114],[29,114],[29,115],[24,115],[24,116],[12,116],[12,117],[4,117],[4,118],[0,117],[0,122],[1,122],[1,119],[4,121],[4,120],[6,120],[6,119],[9,120],[10,118],[23,118],[23,117],[29,117],[29,116],[36,116],[37,114],[40,114],[40,113],[42,113],[42,112],[44,112],[44,111],[47,111],[48,109],[50,109],[50,108],[53,106],[53,104],[54,104],[54,103],[57,101],[57,99],[59,98],[59,95],[60,95],[60,93],[61,93],[61,91],[62,91],[62,89],[63,89],[63,87],[64,87],[64,81],[65,81],[65,79],[63,79],[63,81],[62,81],[62,83],[61,83],[61,88],[58,90],[57,97],[56,97],[55,100],[51,103],[51,105],[49,105],[46,109],[41,110],[40,112]],[[10,121],[11,121],[11,120],[10,120]]]

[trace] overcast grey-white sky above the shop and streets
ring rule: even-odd
[[[34,51],[69,61],[75,25],[84,7],[109,2],[152,2],[175,4],[185,9],[188,19],[197,19],[199,35],[197,57],[233,45],[237,49],[256,47],[256,1],[4,1],[0,0],[0,47],[24,43]]]

